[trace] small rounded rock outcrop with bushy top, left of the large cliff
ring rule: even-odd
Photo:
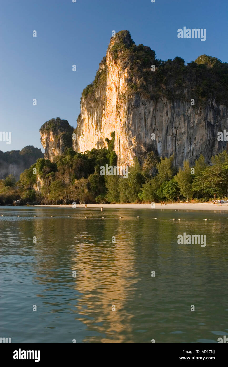
[[[59,117],[46,121],[40,128],[41,144],[45,149],[44,157],[53,161],[61,156],[66,148],[72,147],[73,127],[67,120]]]

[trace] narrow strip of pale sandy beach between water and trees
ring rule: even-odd
[[[60,207],[60,205],[38,205],[42,207]],[[62,204],[62,208],[65,208],[65,205]],[[66,205],[66,207],[72,207],[69,205]],[[78,208],[78,204],[76,205],[76,208]],[[85,208],[84,205],[80,205],[80,208]],[[88,208],[115,208],[115,209],[150,209],[151,204],[87,204]],[[193,204],[193,203],[175,203],[175,204],[166,204],[161,206],[161,204],[155,204],[154,209],[168,209],[168,210],[212,210],[212,211],[228,211],[228,204],[213,204],[213,203],[200,203],[200,204]]]

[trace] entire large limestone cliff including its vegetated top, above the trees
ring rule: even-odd
[[[135,156],[142,161],[150,150],[163,157],[174,152],[176,165],[201,153],[209,159],[226,147],[217,132],[227,128],[227,76],[227,64],[216,58],[163,62],[149,47],[136,46],[128,31],[116,33],[82,92],[73,149],[104,147],[115,131],[119,165],[134,164]],[[56,154],[54,145],[48,152]]]

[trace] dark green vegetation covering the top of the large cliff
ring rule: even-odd
[[[113,59],[127,70],[127,92],[122,97],[130,97],[139,92],[145,98],[195,99],[195,103],[205,105],[208,99],[228,103],[228,63],[222,63],[216,57],[199,56],[195,61],[185,65],[182,58],[176,57],[162,61],[156,59],[155,51],[131,39],[127,30],[115,35],[115,43],[111,47]],[[111,38],[112,40],[112,38]],[[105,62],[105,58],[102,60]],[[152,71],[152,65],[155,71]],[[89,84],[82,97],[93,97],[100,83],[105,84],[105,68],[99,70],[93,83]]]

